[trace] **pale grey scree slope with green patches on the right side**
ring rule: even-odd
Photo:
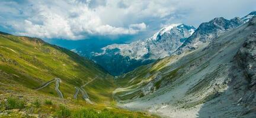
[[[166,117],[256,116],[256,18],[209,45],[124,74],[120,106]]]

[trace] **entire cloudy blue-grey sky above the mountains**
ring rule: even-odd
[[[243,17],[255,0],[1,0],[0,31],[43,39],[145,38],[165,25]]]

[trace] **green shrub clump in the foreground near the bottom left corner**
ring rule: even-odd
[[[23,109],[25,107],[25,101],[17,98],[9,97],[7,99],[7,109]]]

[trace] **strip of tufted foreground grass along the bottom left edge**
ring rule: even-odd
[[[1,98],[0,98],[1,99]],[[31,98],[30,98],[31,99]],[[27,102],[24,102],[27,101]],[[41,104],[39,99],[29,100],[28,98],[22,98],[19,100],[17,97],[8,97],[7,101],[0,101],[0,108],[4,109],[0,112],[4,115],[0,117],[32,117],[33,114],[40,114],[42,117],[66,117],[66,118],[138,118],[138,117],[156,117],[141,112],[130,112],[129,110],[117,109],[115,107],[106,107],[81,103],[82,107],[78,107],[78,104]],[[114,101],[112,101],[114,102]],[[4,103],[4,106],[2,106]],[[113,103],[114,105],[114,103]],[[11,106],[11,107],[10,107]],[[19,109],[19,110],[15,110]],[[23,111],[21,113],[19,111]],[[5,114],[6,113],[6,114]]]

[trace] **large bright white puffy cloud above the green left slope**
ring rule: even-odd
[[[9,22],[9,25],[16,30],[15,34],[77,40],[86,38],[87,35],[137,34],[146,29],[144,22],[130,24],[128,27],[115,27],[105,24],[103,19],[84,2],[50,2],[51,4],[30,2],[33,3],[30,8],[33,9],[31,16],[20,22]]]

